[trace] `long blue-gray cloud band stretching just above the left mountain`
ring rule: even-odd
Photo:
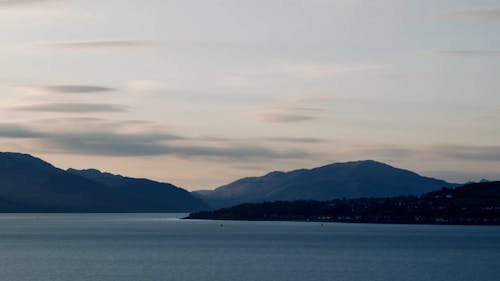
[[[2,138],[37,139],[41,147],[54,152],[67,152],[86,155],[108,156],[155,156],[175,155],[183,157],[220,157],[220,158],[303,158],[309,153],[298,150],[275,151],[269,148],[253,145],[183,145],[172,144],[169,141],[198,141],[182,136],[165,133],[118,133],[110,125],[90,122],[88,129],[75,132],[40,132],[36,128],[20,124],[0,125]],[[128,122],[125,121],[125,124]],[[99,130],[92,129],[99,128]]]

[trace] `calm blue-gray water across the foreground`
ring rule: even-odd
[[[499,227],[222,224],[172,214],[3,214],[0,279],[500,280]]]

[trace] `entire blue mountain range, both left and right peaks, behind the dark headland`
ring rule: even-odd
[[[420,195],[457,186],[375,160],[360,160],[272,171],[190,193],[170,183],[97,169],[63,170],[29,154],[13,152],[0,153],[0,181],[0,212],[193,211],[276,200]]]

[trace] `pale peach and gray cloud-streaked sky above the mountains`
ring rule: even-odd
[[[0,150],[213,189],[500,179],[498,0],[0,0]]]

